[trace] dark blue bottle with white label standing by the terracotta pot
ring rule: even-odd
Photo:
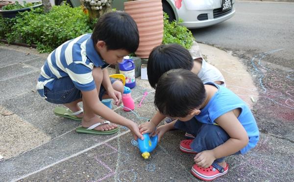
[[[129,56],[123,57],[123,62],[119,63],[120,73],[125,76],[125,86],[134,88],[136,86],[135,80],[135,63]]]

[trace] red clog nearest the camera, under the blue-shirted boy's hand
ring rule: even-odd
[[[216,162],[212,163],[212,165],[207,168],[202,168],[197,164],[194,164],[192,166],[191,173],[201,180],[212,181],[222,175],[225,175],[228,172],[228,168],[228,164],[226,164],[226,167],[223,168]]]

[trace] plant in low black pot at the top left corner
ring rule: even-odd
[[[30,11],[31,8],[41,7],[42,2],[28,2],[24,1],[23,4],[20,4],[18,1],[15,1],[14,4],[8,4],[2,7],[0,10],[0,16],[3,18],[14,18],[19,12]]]

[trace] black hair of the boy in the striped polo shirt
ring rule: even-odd
[[[95,44],[99,40],[105,41],[107,50],[123,49],[133,53],[139,46],[137,24],[123,11],[113,11],[101,16],[91,38]]]

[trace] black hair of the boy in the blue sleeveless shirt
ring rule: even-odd
[[[172,69],[160,77],[154,104],[166,116],[184,118],[198,108],[205,97],[204,84],[195,73],[186,69]]]

